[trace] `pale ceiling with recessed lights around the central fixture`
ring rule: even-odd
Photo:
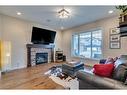
[[[62,8],[63,6],[0,6],[0,13],[38,22],[55,30],[61,30],[61,27],[65,30],[118,14],[115,6],[64,6],[70,12],[70,17],[62,20],[57,14]],[[109,10],[114,12],[109,14]],[[22,15],[17,15],[17,12]]]

